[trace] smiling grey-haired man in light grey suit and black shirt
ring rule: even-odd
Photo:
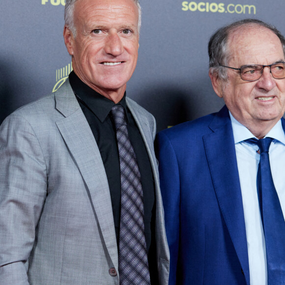
[[[168,284],[155,120],[125,97],[140,23],[137,0],[66,0],[63,35],[74,71],[0,126],[0,284]],[[114,107],[124,110],[143,195],[141,244],[130,239],[123,253]],[[125,261],[137,246],[144,267],[141,250]]]

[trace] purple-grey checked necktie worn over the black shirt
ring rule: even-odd
[[[150,285],[143,222],[141,174],[129,139],[125,110],[112,110],[119,151],[121,175],[121,217],[119,230],[120,285]]]

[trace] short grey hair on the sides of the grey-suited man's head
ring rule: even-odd
[[[66,0],[64,7],[64,25],[71,30],[74,37],[76,37],[76,28],[74,25],[74,6],[76,1],[77,0]],[[138,12],[139,12],[138,32],[140,33],[142,26],[142,7],[140,5],[139,0],[133,0],[133,1],[136,3],[138,7]]]

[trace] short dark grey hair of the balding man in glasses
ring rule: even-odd
[[[274,26],[267,24],[263,21],[257,19],[244,19],[227,26],[219,28],[210,38],[208,44],[208,54],[209,54],[209,69],[212,74],[217,73],[218,76],[227,81],[228,74],[227,68],[222,67],[222,65],[228,65],[229,52],[228,51],[228,37],[231,32],[241,28],[244,25],[249,26],[260,26],[272,30],[280,39],[283,45],[283,52],[285,55],[285,38],[282,33]]]

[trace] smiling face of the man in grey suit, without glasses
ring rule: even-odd
[[[123,94],[138,58],[138,7],[133,0],[77,0],[76,38],[64,28],[75,73],[88,86],[108,97]]]

